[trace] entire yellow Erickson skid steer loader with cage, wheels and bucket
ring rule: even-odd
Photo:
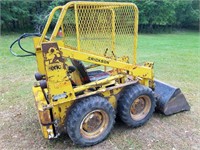
[[[47,38],[55,13],[59,18]],[[69,2],[55,7],[43,33],[34,36],[33,93],[45,138],[67,131],[75,144],[90,146],[108,136],[116,112],[138,127],[155,109],[165,115],[190,109],[180,89],[154,79],[152,62],[136,63],[133,3]]]

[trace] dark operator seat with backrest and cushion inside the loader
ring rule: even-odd
[[[85,66],[79,60],[71,59],[71,62],[73,66],[75,66],[78,72],[80,73],[81,81],[84,84],[92,81],[102,80],[110,76],[107,72],[101,70],[87,72]]]

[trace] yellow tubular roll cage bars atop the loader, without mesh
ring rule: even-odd
[[[133,43],[134,43],[134,48],[133,48],[133,64],[134,65],[136,65],[136,52],[137,52],[137,37],[138,37],[138,8],[137,8],[137,6],[135,5],[135,4],[133,4],[133,3],[117,3],[117,2],[83,2],[83,1],[73,1],[73,2],[69,2],[69,3],[67,3],[66,5],[64,5],[64,6],[57,6],[57,7],[55,7],[53,10],[52,10],[52,12],[51,12],[51,14],[50,14],[50,16],[49,16],[49,19],[48,19],[48,21],[47,21],[47,24],[46,24],[46,26],[45,26],[45,28],[44,28],[44,31],[43,31],[43,33],[42,33],[42,36],[41,36],[41,39],[40,39],[40,42],[38,43],[38,47],[40,47],[40,45],[41,45],[41,43],[43,42],[43,41],[45,41],[45,35],[47,34],[47,31],[48,31],[48,28],[49,28],[49,25],[50,25],[50,23],[51,23],[51,21],[52,21],[52,18],[53,18],[53,16],[54,16],[54,14],[55,14],[55,12],[57,11],[57,10],[59,10],[59,9],[61,9],[62,11],[61,11],[61,13],[60,13],[60,16],[59,16],[59,18],[58,18],[58,21],[57,21],[57,23],[56,23],[56,26],[55,26],[55,28],[54,28],[54,31],[53,31],[53,33],[52,33],[52,35],[51,35],[51,37],[50,37],[50,41],[54,41],[55,40],[55,38],[56,38],[56,36],[57,36],[57,33],[58,33],[58,31],[59,31],[59,29],[60,29],[60,27],[62,26],[62,22],[63,22],[63,19],[64,19],[64,17],[65,17],[65,14],[66,14],[66,12],[67,12],[67,10],[69,9],[69,8],[71,8],[71,7],[74,7],[75,8],[75,13],[77,12],[76,11],[76,6],[77,6],[77,4],[84,4],[84,5],[105,5],[105,6],[112,6],[110,9],[111,9],[111,11],[112,11],[112,8],[113,7],[119,7],[119,6],[131,6],[132,8],[133,8],[133,10],[134,10],[134,12],[135,12],[135,18],[134,18],[134,20],[135,20],[135,23],[134,23],[134,41],[133,41]],[[114,15],[114,14],[113,14]],[[77,48],[77,50],[80,50],[80,44],[79,44],[79,31],[78,31],[78,19],[77,19],[77,14],[75,14],[75,19],[76,19],[76,34],[77,34],[77,44],[78,44],[78,48]],[[113,24],[113,28],[114,28],[114,24]],[[113,35],[113,41],[115,40],[115,36]],[[114,46],[113,46],[114,47]]]

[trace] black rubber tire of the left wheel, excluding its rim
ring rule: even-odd
[[[102,133],[99,137],[95,138],[95,140],[89,141],[84,139],[81,136],[81,134],[77,134],[77,132],[75,132],[75,130],[77,130],[75,125],[80,124],[81,122],[80,118],[84,117],[82,115],[85,114],[91,108],[104,109],[104,111],[106,111],[109,115],[110,124],[108,125],[108,129],[106,129],[105,131],[107,132],[106,135],[103,135],[104,137],[101,137],[102,134],[104,134]],[[68,114],[68,117],[66,118],[65,126],[67,128],[68,135],[74,142],[74,144],[78,144],[80,146],[91,146],[103,141],[109,135],[110,131],[113,128],[114,123],[115,123],[115,110],[112,107],[112,105],[103,97],[91,96],[83,100],[80,100],[73,106],[73,108]]]

